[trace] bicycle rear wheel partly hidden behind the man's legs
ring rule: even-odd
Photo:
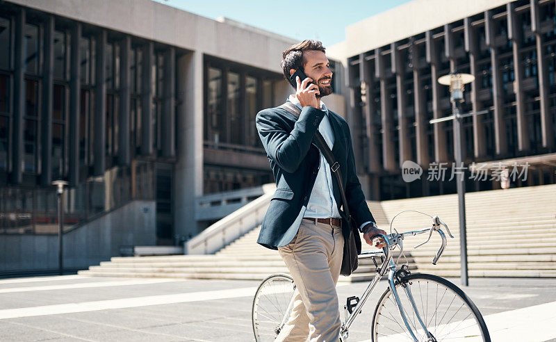
[[[294,292],[295,284],[289,275],[271,275],[261,282],[252,307],[253,332],[257,342],[276,339],[288,321]]]

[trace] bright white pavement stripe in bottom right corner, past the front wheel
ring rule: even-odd
[[[492,341],[542,342],[556,338],[556,302],[524,307],[484,316]],[[386,336],[381,341],[399,341],[403,334]],[[370,340],[360,341],[370,342]]]

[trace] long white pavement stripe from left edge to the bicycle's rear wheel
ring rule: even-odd
[[[169,280],[175,281],[176,279]],[[346,285],[347,283],[338,284],[337,287]],[[41,307],[3,309],[0,310],[0,320],[31,316],[72,314],[75,312],[99,311],[106,309],[147,307],[149,305],[201,302],[204,300],[218,300],[226,298],[253,297],[256,289],[257,287],[244,287],[232,288],[229,290],[177,293],[172,295],[149,295],[145,297],[122,298],[117,300],[97,300],[94,302],[76,302],[68,304],[44,305]]]

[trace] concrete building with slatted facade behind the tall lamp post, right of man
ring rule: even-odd
[[[406,183],[404,161],[452,163],[451,72],[473,74],[464,113],[466,165],[530,164],[512,186],[556,182],[556,14],[553,0],[414,0],[347,26],[328,50],[347,69],[345,93],[360,179],[370,199],[455,193],[455,181]],[[468,190],[499,188],[468,179]]]

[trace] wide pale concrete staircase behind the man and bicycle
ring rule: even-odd
[[[368,204],[379,227],[386,231],[389,231],[389,220],[403,210],[439,215],[455,238],[448,238],[448,247],[438,264],[431,264],[440,245],[437,235],[416,250],[412,246],[425,241],[426,236],[406,238],[405,256],[410,268],[419,272],[459,276],[457,195]],[[466,219],[471,277],[556,277],[556,185],[468,193]],[[393,228],[420,229],[430,226],[430,222],[425,215],[408,212],[395,219]],[[259,229],[255,227],[215,254],[113,257],[79,273],[111,277],[263,279],[273,272],[287,272],[277,251],[256,244]],[[374,270],[373,261],[364,259],[354,275],[340,277],[340,281],[368,280]]]

